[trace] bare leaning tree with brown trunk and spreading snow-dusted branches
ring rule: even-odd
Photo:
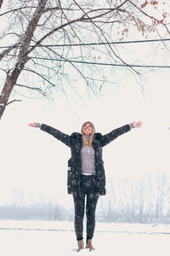
[[[77,73],[88,89],[99,91],[108,78],[99,77],[91,64],[101,56],[115,65],[112,72],[123,66],[139,74],[111,42],[136,30],[144,37],[153,32],[154,37],[165,38],[167,2],[162,8],[156,1],[139,0],[1,0],[0,119],[8,104],[20,101],[17,93],[28,90],[51,96],[54,89],[65,93],[64,84],[71,86]],[[94,42],[98,49],[91,45]]]

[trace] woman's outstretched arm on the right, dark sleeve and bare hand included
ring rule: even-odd
[[[117,128],[117,129],[111,131],[110,133],[103,135],[101,137],[102,147],[104,147],[108,143],[111,143],[114,139],[116,139],[116,137],[119,137],[123,133],[126,133],[127,131],[130,131],[132,128],[139,128],[141,126],[142,126],[141,121],[133,122],[130,125],[123,125],[122,127]]]

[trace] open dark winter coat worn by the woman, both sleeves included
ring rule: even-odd
[[[41,130],[48,132],[71,148],[71,159],[68,160],[67,189],[69,194],[80,191],[80,177],[82,174],[82,134],[73,132],[71,136],[69,136],[51,126],[44,124],[42,124]],[[105,195],[105,169],[104,161],[102,159],[102,148],[108,143],[111,143],[114,139],[116,139],[116,137],[130,130],[130,125],[124,125],[105,135],[102,135],[101,133],[94,134],[93,146],[96,166],[95,186],[96,190],[99,191],[99,195]]]

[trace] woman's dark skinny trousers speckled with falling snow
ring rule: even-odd
[[[75,206],[75,231],[77,241],[83,239],[83,217],[85,211],[85,198],[86,202],[86,216],[87,216],[87,241],[94,236],[95,228],[95,210],[99,199],[99,193],[94,190],[93,176],[83,176],[81,182],[81,192],[73,194]]]

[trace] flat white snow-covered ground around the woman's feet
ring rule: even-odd
[[[0,255],[57,256],[77,253],[71,222],[0,221]],[[96,223],[94,255],[169,256],[170,225]],[[89,253],[84,249],[81,253]]]

